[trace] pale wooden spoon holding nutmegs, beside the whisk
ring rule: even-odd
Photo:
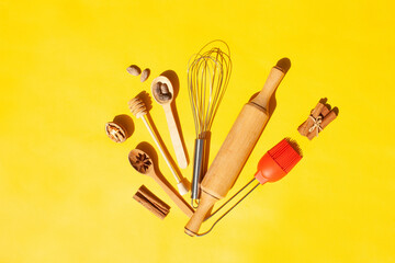
[[[165,87],[165,92],[161,93],[160,85]],[[159,89],[159,92],[158,92]],[[159,76],[158,78],[154,79],[151,83],[151,94],[154,100],[163,106],[166,121],[168,123],[171,142],[173,145],[176,151],[177,162],[180,168],[184,169],[188,167],[187,155],[184,148],[181,142],[180,132],[176,125],[174,115],[171,111],[171,102],[174,98],[174,90],[173,87],[168,78],[165,76]]]

